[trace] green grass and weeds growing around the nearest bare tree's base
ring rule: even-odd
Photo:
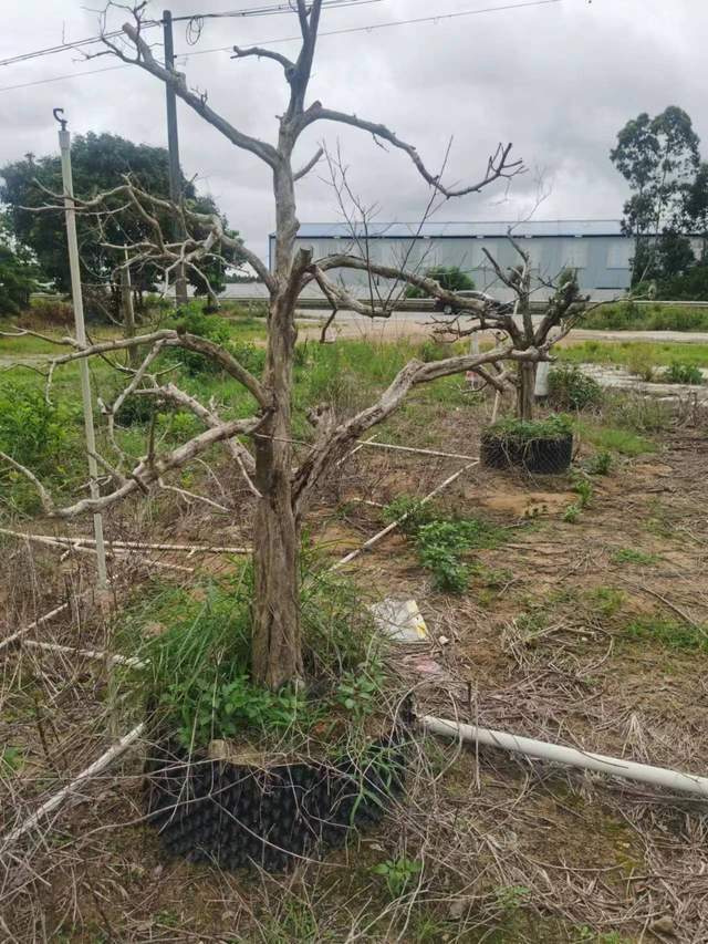
[[[184,747],[247,739],[296,751],[315,739],[341,750],[363,734],[382,705],[395,702],[385,671],[385,641],[366,601],[346,578],[304,556],[301,581],[305,686],[278,692],[251,677],[252,568],[198,587],[155,583],[122,614],[116,639],[145,662],[123,684],[156,730]],[[384,696],[384,689],[386,689]],[[393,695],[392,695],[393,693]],[[316,728],[316,735],[313,733]],[[358,734],[357,734],[358,732]]]

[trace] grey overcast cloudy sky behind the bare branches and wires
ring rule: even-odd
[[[77,40],[97,32],[90,0],[12,0],[3,6],[0,58]],[[521,0],[376,0],[324,11],[311,83],[311,100],[379,121],[414,143],[437,168],[450,135],[448,180],[472,180],[483,172],[499,141],[512,141],[530,172],[509,191],[496,185],[483,195],[448,201],[437,220],[519,219],[533,206],[537,172],[550,196],[539,219],[616,218],[626,197],[608,159],[620,127],[638,112],[666,105],[685,108],[705,138],[708,158],[708,98],[705,0],[560,0],[546,6],[480,12],[436,23],[393,25],[366,32],[327,31],[374,25]],[[175,15],[266,6],[267,0],[173,0]],[[269,3],[270,6],[270,3]],[[9,9],[8,9],[9,8]],[[162,3],[149,12],[158,17]],[[114,18],[119,25],[124,17]],[[232,124],[274,141],[274,116],[287,90],[272,62],[235,62],[232,44],[266,44],[298,32],[292,13],[206,21],[196,45],[185,24],[176,27],[177,53],[191,86]],[[158,39],[158,31],[155,31]],[[294,58],[298,43],[273,49]],[[194,54],[194,53],[201,54]],[[0,69],[0,163],[27,152],[56,149],[52,108],[63,106],[75,134],[112,132],[154,145],[166,142],[164,89],[134,66],[108,70],[108,58],[84,62],[75,52]],[[8,86],[72,77],[4,91]],[[75,77],[74,77],[75,76]],[[181,163],[197,175],[260,255],[274,214],[267,168],[238,152],[218,132],[179,104]],[[420,218],[428,189],[408,158],[384,152],[362,132],[317,124],[300,144],[302,162],[320,139],[342,148],[353,186],[365,204],[378,205],[381,221]],[[299,186],[299,217],[339,219],[324,173]]]

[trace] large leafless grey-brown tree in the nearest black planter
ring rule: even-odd
[[[500,145],[489,158],[485,173],[477,181],[465,187],[447,187],[439,175],[434,175],[427,169],[416,148],[385,125],[366,121],[357,115],[333,111],[317,101],[308,104],[308,85],[315,52],[322,0],[311,0],[311,2],[296,0],[293,4],[302,34],[296,60],[291,61],[269,49],[235,48],[235,59],[257,56],[275,63],[282,69],[290,90],[288,107],[278,120],[277,143],[270,144],[252,137],[216,112],[209,105],[206,95],[190,90],[183,74],[166,69],[155,58],[142,35],[143,6],[132,11],[133,19],[123,27],[122,40],[111,39],[106,34],[104,41],[108,51],[149,73],[157,81],[170,85],[188,107],[236,147],[268,165],[272,173],[277,231],[272,271],[240,240],[238,241],[239,251],[260,276],[269,292],[266,365],[262,376],[257,377],[218,344],[189,333],[167,329],[86,347],[74,344],[74,350],[55,359],[55,366],[81,357],[140,345],[147,350],[147,354],[140,366],[132,373],[128,386],[142,395],[171,400],[191,409],[206,425],[206,432],[170,453],[155,454],[153,448],[149,448],[148,454],[127,474],[113,468],[107,460],[102,459],[104,468],[110,470],[115,479],[113,490],[95,500],[84,498],[69,508],[58,509],[41,483],[31,475],[31,470],[23,469],[23,471],[29,473],[34,480],[49,514],[70,517],[107,508],[136,491],[147,491],[152,486],[158,486],[164,476],[173,469],[178,469],[199,456],[214,443],[230,444],[235,461],[238,461],[242,475],[247,477],[252,491],[258,496],[253,528],[256,599],[252,675],[257,682],[271,688],[279,688],[288,683],[296,683],[303,677],[299,600],[300,531],[303,515],[323,476],[354,440],[372,426],[386,419],[416,385],[470,370],[483,373],[485,365],[501,364],[507,360],[532,363],[545,356],[543,346],[539,347],[532,343],[524,344],[522,350],[517,349],[518,335],[514,334],[510,335],[512,338],[510,343],[500,344],[482,354],[452,356],[434,363],[413,360],[399,371],[375,403],[355,416],[339,422],[332,409],[319,411],[313,417],[315,426],[313,443],[299,467],[293,468],[292,393],[296,341],[295,304],[306,284],[316,281],[331,301],[371,317],[387,317],[391,311],[385,305],[376,308],[373,303],[363,304],[345,288],[331,281],[329,272],[336,269],[365,267],[367,271],[375,274],[405,280],[421,287],[429,294],[480,317],[485,313],[487,305],[483,300],[458,298],[454,292],[442,289],[435,280],[408,273],[402,269],[374,266],[371,261],[350,256],[332,256],[313,260],[310,251],[296,249],[299,221],[295,185],[315,166],[322,152],[317,151],[304,166],[298,169],[294,166],[295,146],[302,134],[316,123],[327,122],[352,126],[372,135],[377,143],[385,142],[391,148],[405,155],[427,185],[444,198],[479,193],[494,180],[519,173],[521,163],[510,160],[511,145]],[[123,187],[126,198],[136,200],[140,211],[149,218],[150,201],[146,195],[129,181],[126,181]],[[190,222],[199,222],[206,236],[202,235],[198,239],[188,237],[179,245],[169,243],[162,238],[162,235],[158,236],[158,229],[154,228],[154,237],[148,241],[149,245],[138,243],[127,247],[132,266],[139,264],[140,259],[147,258],[153,260],[160,258],[167,267],[179,262],[198,266],[205,252],[222,252],[225,246],[228,248],[229,237],[220,229],[218,219],[209,220],[204,217],[197,219],[184,207],[174,209],[183,215],[187,231]],[[253,416],[248,419],[225,421],[214,409],[197,403],[174,384],[162,385],[154,375],[150,378],[150,364],[159,351],[170,346],[181,346],[215,359],[250,392],[253,398]],[[143,386],[142,382],[146,380],[147,385]],[[248,437],[252,449],[247,449],[236,438],[237,436]]]

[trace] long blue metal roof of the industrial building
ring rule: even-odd
[[[479,222],[371,222],[367,226],[369,238],[410,239],[420,236],[424,239],[482,238],[507,236],[509,228],[514,236],[622,236],[618,219],[533,219],[525,222],[517,220],[489,220]],[[356,224],[356,235],[365,235],[362,224]],[[274,236],[274,234],[271,234]],[[303,222],[298,230],[303,239],[346,239],[352,237],[352,227],[347,222]]]

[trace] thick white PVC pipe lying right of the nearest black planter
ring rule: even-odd
[[[708,798],[708,777],[696,777],[693,774],[681,774],[666,767],[652,767],[648,764],[636,764],[620,757],[607,757],[604,754],[591,754],[575,747],[564,747],[549,744],[545,740],[534,740],[506,732],[480,728],[459,722],[449,722],[426,715],[420,719],[425,730],[438,737],[450,737],[461,741],[483,744],[487,747],[498,747],[527,757],[538,757],[541,760],[552,760],[580,767],[583,770],[596,770],[611,777],[626,777],[654,787],[665,787],[668,790],[680,790],[686,793],[698,793]]]

